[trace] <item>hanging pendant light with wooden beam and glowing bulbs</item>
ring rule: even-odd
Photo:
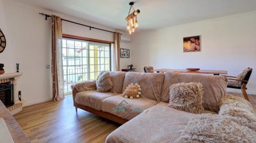
[[[134,2],[129,3],[131,7],[127,17],[125,18],[125,20],[127,21],[126,29],[127,31],[129,31],[129,34],[134,33],[135,29],[137,29],[139,26],[137,21],[137,15],[140,13],[140,10],[134,10],[133,4]],[[133,10],[132,13],[131,13],[131,9]]]

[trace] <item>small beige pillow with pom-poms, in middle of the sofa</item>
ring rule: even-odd
[[[141,88],[139,84],[129,84],[126,87],[123,96],[125,98],[140,98]]]

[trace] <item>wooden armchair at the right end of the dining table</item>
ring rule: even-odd
[[[228,88],[241,89],[244,98],[249,101],[248,95],[246,93],[246,85],[252,74],[252,68],[245,68],[243,72],[239,73],[237,77],[223,75],[228,77]]]

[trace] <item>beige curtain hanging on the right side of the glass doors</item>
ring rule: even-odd
[[[120,71],[120,40],[121,34],[115,33],[115,45],[114,45],[114,71]]]

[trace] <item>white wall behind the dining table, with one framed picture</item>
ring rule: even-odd
[[[140,72],[143,66],[152,65],[154,68],[227,70],[228,75],[237,75],[243,68],[252,67],[248,93],[256,94],[255,24],[256,11],[135,33],[132,63]],[[184,53],[183,37],[196,35],[201,35],[202,52]]]

